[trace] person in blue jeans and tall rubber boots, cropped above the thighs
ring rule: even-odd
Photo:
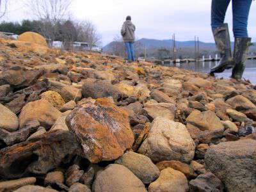
[[[221,60],[216,67],[211,68],[211,75],[233,68],[231,77],[241,79],[251,44],[251,38],[248,37],[247,24],[252,0],[232,0],[233,33],[235,38],[233,57],[228,24],[224,23],[230,1],[212,0],[211,27]]]

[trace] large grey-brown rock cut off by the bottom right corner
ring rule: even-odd
[[[227,191],[255,191],[255,140],[212,145],[205,154],[205,166],[225,185]]]

